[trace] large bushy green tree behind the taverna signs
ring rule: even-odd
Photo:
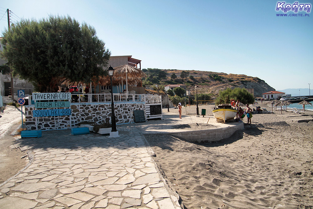
[[[105,74],[110,58],[95,29],[69,16],[22,20],[3,32],[2,44],[1,56],[13,75],[40,92],[55,91],[56,81],[63,78],[88,83]]]

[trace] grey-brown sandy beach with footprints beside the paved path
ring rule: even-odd
[[[199,112],[212,114],[212,107]],[[196,113],[195,106],[182,110]],[[170,112],[178,118],[177,109]],[[282,113],[254,114],[251,125],[216,143],[145,137],[185,208],[313,208],[313,121],[298,123],[313,112]]]

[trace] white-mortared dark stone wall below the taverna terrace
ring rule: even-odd
[[[145,103],[115,103],[116,124],[135,123],[134,110],[144,110]],[[34,106],[25,106],[27,130],[36,129],[36,118],[33,117]],[[77,103],[71,104],[71,118],[69,116],[38,117],[38,130],[57,130],[77,127],[78,123],[87,121],[97,124],[105,123],[106,118],[111,122],[111,103]],[[71,125],[70,125],[71,119]]]

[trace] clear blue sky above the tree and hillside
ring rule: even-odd
[[[276,90],[308,88],[308,83],[312,88],[313,12],[277,17],[283,12],[276,12],[276,5],[267,0],[11,0],[0,5],[0,29],[8,27],[7,8],[13,23],[69,15],[93,26],[111,55],[132,55],[142,60],[141,68],[245,74]]]

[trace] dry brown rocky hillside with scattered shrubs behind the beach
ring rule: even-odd
[[[198,93],[210,93],[214,96],[217,96],[219,91],[235,87],[254,89],[254,97],[262,97],[262,93],[275,90],[258,77],[191,70],[184,71],[185,75],[182,78],[182,70],[159,70],[163,71],[163,73],[159,73],[159,77],[156,79],[156,73],[158,70],[159,69],[150,68],[143,69],[147,75],[146,79],[152,81],[154,84],[156,84],[156,82],[153,81],[159,81],[158,84],[161,85],[185,84],[187,86],[187,90],[191,90],[192,93],[195,85],[199,86]],[[160,76],[160,74],[166,76]],[[175,76],[172,76],[172,74],[175,74],[176,78]]]

